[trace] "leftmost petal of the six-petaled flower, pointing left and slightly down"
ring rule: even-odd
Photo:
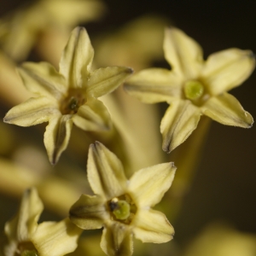
[[[47,122],[59,113],[58,106],[47,97],[30,98],[26,102],[11,108],[3,118],[5,123],[31,126]]]

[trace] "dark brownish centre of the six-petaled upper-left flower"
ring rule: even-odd
[[[84,93],[80,90],[70,90],[66,98],[61,101],[61,113],[73,114],[79,111],[79,108],[84,105],[86,99]]]

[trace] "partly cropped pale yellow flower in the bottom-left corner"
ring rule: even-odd
[[[38,224],[43,208],[37,189],[26,190],[18,214],[5,224],[4,256],[61,256],[75,250],[81,230],[68,218]]]

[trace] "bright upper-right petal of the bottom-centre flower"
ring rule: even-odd
[[[139,207],[153,207],[171,187],[175,171],[172,162],[143,168],[132,175],[129,194]]]

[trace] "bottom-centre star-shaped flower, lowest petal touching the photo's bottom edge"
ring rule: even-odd
[[[170,188],[175,171],[173,163],[164,163],[141,169],[127,180],[116,155],[101,143],[91,144],[87,174],[96,195],[81,195],[70,218],[84,230],[103,227],[101,247],[111,256],[131,255],[132,235],[143,242],[170,241],[172,225],[151,207]]]

